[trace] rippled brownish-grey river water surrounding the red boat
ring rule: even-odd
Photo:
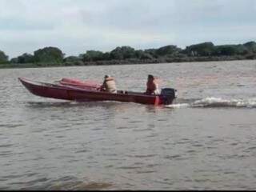
[[[66,102],[18,82],[147,74],[170,106]],[[0,190],[255,190],[256,61],[0,70]]]

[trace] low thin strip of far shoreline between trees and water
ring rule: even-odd
[[[178,63],[178,62],[226,62],[226,61],[248,61],[256,60],[255,58],[246,58],[241,55],[237,56],[222,56],[222,57],[190,57],[190,58],[158,58],[158,59],[124,59],[110,60],[97,62],[81,63],[17,63],[17,64],[2,64],[0,69],[22,69],[22,68],[46,68],[46,67],[63,67],[63,66],[122,66],[122,65],[142,65],[142,64],[158,64],[158,63]]]

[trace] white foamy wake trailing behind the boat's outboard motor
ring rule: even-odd
[[[186,102],[177,102],[166,107],[168,108],[188,108],[188,107],[256,108],[256,98],[248,98],[248,99],[202,98],[198,100],[187,100]]]

